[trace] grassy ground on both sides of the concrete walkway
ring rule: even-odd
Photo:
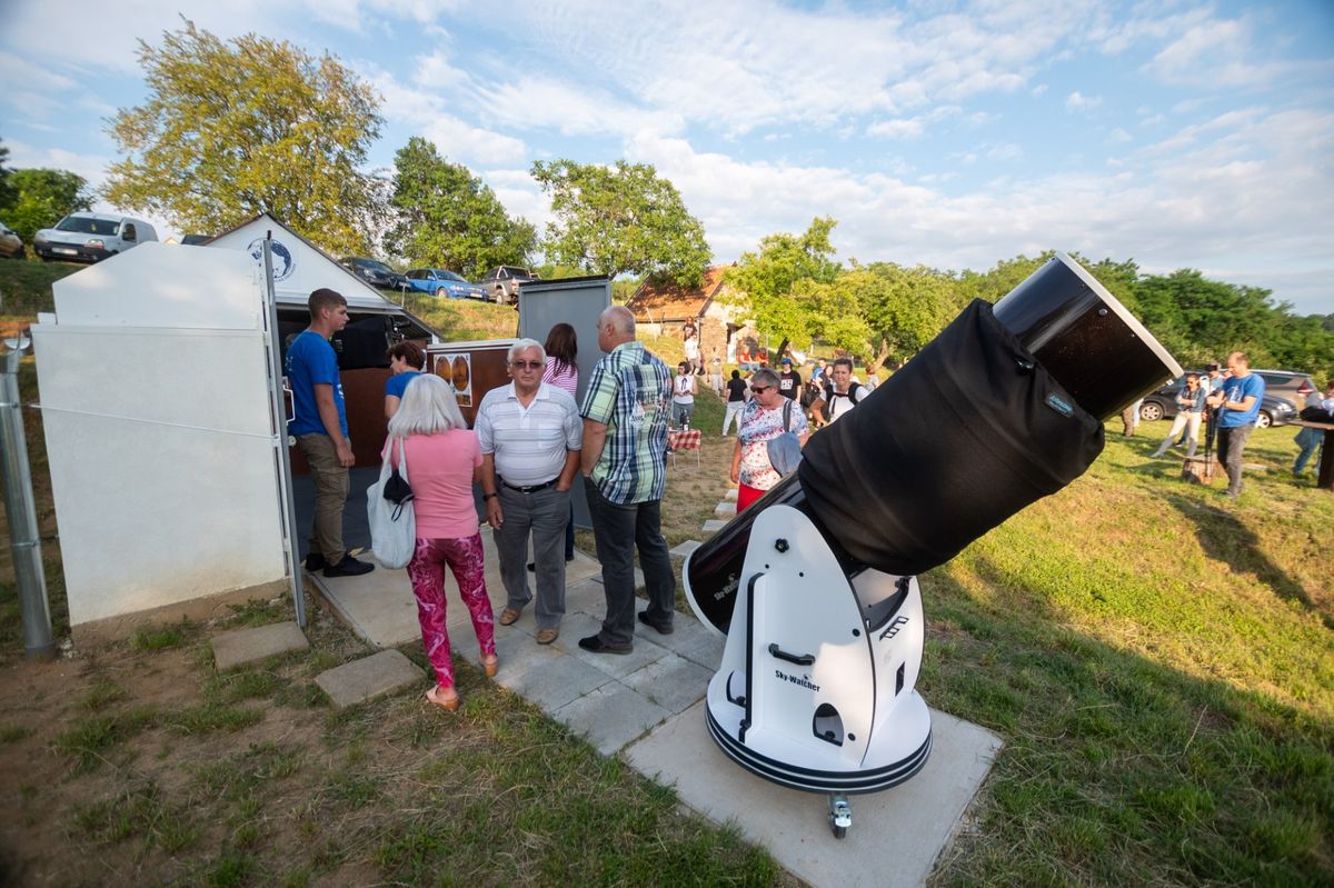
[[[452,329],[468,336],[502,333],[472,332],[484,321],[463,312],[510,311],[440,308],[460,309]],[[676,340],[651,347],[680,356]],[[23,383],[33,389],[31,367]],[[702,392],[699,464],[684,453],[668,468],[670,545],[702,539],[730,487],[722,413]],[[1151,459],[1166,431],[1151,423],[1141,437],[1109,437],[1082,479],[920,579],[919,689],[1006,744],[934,884],[1334,881],[1334,496],[1287,475],[1291,429],[1254,435],[1257,468],[1237,503]],[[587,533],[579,545],[592,551]],[[0,665],[16,667],[7,565]],[[312,679],[364,648],[312,609],[309,652],[212,672],[209,633],[276,619],[289,607],[237,609],[207,629],[144,629],[67,661],[71,675],[45,696],[0,689],[11,709],[0,773],[5,788],[21,783],[19,811],[0,812],[0,873],[89,884],[794,884],[735,829],[683,813],[670,788],[599,756],[466,663],[456,716],[416,693],[334,711]],[[423,661],[419,647],[406,653]],[[25,841],[33,824],[67,833],[64,844]]]

